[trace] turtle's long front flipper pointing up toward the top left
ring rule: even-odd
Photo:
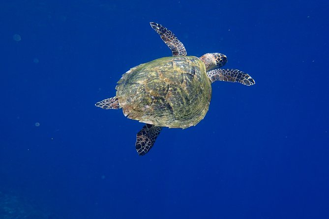
[[[171,49],[173,56],[187,55],[184,45],[177,39],[172,31],[154,22],[150,22],[150,25],[160,35],[163,42]]]

